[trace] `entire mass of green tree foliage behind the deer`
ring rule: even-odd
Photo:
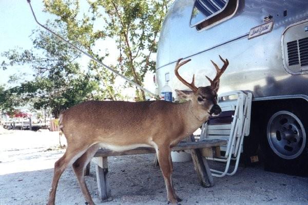
[[[155,70],[153,53],[170,0],[88,1],[90,14],[81,12],[77,0],[44,0],[44,4],[45,12],[58,17],[46,26],[98,60],[103,61],[108,52],[94,51],[95,44],[114,39],[120,54],[117,65],[110,66],[139,85],[146,72]],[[76,62],[81,54],[46,31],[34,30],[31,39],[33,50],[2,53],[8,59],[0,65],[2,69],[28,65],[35,74],[31,81],[25,81],[25,73],[14,74],[9,83],[22,82],[20,86],[0,87],[1,110],[30,104],[50,108],[57,118],[62,110],[86,100],[122,99],[114,87],[116,76],[106,68],[89,61],[87,69],[82,69]],[[136,94],[137,100],[145,100],[142,90],[136,88]]]

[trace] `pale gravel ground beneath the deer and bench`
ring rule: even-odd
[[[65,144],[65,139],[62,139]],[[6,131],[0,128],[0,204],[46,204],[57,149],[55,132]],[[109,157],[112,201],[97,194],[95,167],[86,177],[97,204],[166,204],[165,184],[153,154]],[[214,164],[210,164],[213,166]],[[218,166],[221,166],[219,164]],[[263,171],[261,165],[239,167],[235,176],[214,178],[215,185],[199,185],[192,162],[174,162],[175,189],[181,204],[308,204],[308,178]],[[59,181],[56,204],[84,204],[71,169]]]

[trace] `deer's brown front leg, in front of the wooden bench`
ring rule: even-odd
[[[175,192],[172,186],[172,167],[170,166],[169,156],[170,156],[170,148],[169,147],[158,147],[158,162],[161,167],[163,177],[166,184],[167,190],[167,198],[168,203],[177,204],[177,196],[175,196]]]

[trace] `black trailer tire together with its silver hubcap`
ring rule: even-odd
[[[276,109],[265,121],[260,142],[265,170],[306,176],[307,119],[296,110]]]

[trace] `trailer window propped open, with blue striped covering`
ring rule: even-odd
[[[190,27],[209,28],[232,17],[239,0],[196,0],[190,18]]]

